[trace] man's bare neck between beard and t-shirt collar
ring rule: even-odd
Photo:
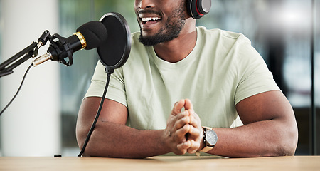
[[[186,22],[178,38],[154,46],[156,55],[164,61],[171,63],[176,63],[186,58],[194,46],[196,46],[197,31],[195,22]]]

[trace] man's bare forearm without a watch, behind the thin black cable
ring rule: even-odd
[[[85,141],[85,130],[78,130],[80,147]],[[170,150],[161,140],[162,131],[164,130],[136,130],[125,125],[98,121],[84,155],[124,158],[163,155]]]

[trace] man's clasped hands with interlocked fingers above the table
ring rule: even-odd
[[[176,155],[193,154],[203,147],[201,120],[194,112],[191,100],[182,99],[174,105],[166,123],[164,138]]]

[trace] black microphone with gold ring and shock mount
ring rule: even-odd
[[[80,26],[72,36],[64,38],[58,34],[49,36],[50,46],[47,53],[32,62],[37,66],[49,59],[67,66],[73,64],[73,53],[82,49],[97,48],[107,40],[107,28],[100,21],[90,21]],[[64,58],[69,58],[66,62]]]

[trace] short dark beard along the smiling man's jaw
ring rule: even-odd
[[[139,41],[144,44],[144,46],[154,46],[158,43],[164,43],[167,41],[174,40],[177,38],[186,24],[186,15],[184,14],[186,4],[181,3],[181,6],[174,11],[174,13],[168,17],[166,24],[162,27],[158,33],[154,36],[142,36],[142,28],[140,26],[140,37]]]

